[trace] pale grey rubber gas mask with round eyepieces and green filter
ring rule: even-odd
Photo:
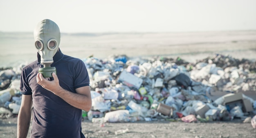
[[[52,20],[42,20],[34,29],[34,39],[36,49],[41,57],[40,63],[44,66],[39,68],[38,72],[42,73],[44,78],[50,78],[53,72],[56,73],[56,68],[51,65],[61,40],[60,29]]]

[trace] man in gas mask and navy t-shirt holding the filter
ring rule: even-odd
[[[92,106],[85,64],[61,52],[60,30],[52,20],[38,23],[34,39],[38,60],[25,66],[21,74],[17,138],[27,137],[32,105],[31,138],[84,138],[82,110]],[[56,73],[44,78],[38,73],[43,65],[55,67]]]

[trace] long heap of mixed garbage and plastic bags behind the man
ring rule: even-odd
[[[256,101],[243,91],[256,91],[256,62],[216,54],[195,63],[180,57],[83,60],[89,73],[92,108],[83,118],[99,122],[170,120],[183,122],[253,121]],[[0,117],[18,114],[22,67],[0,71]],[[216,100],[214,91],[228,92]],[[254,119],[255,120],[255,119]]]

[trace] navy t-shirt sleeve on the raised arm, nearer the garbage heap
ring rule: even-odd
[[[90,79],[88,75],[88,71],[85,67],[85,64],[82,60],[79,60],[76,64],[74,71],[74,88],[79,88],[83,86],[90,85]]]

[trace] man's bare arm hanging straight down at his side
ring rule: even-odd
[[[17,122],[17,138],[27,138],[31,120],[32,95],[22,95]]]

